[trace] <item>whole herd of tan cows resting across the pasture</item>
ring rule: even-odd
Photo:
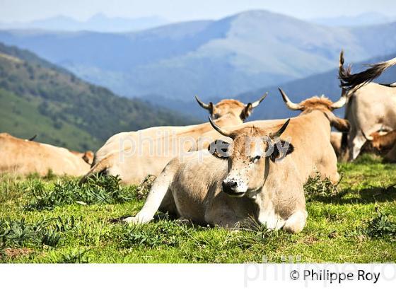
[[[197,224],[260,223],[296,233],[307,218],[303,185],[318,173],[336,184],[337,157],[352,161],[371,150],[396,161],[396,83],[372,82],[393,65],[396,58],[351,74],[341,53],[337,102],[322,95],[293,103],[279,88],[286,106],[300,115],[243,123],[265,95],[247,105],[197,98],[209,122],[115,134],[95,156],[2,133],[0,172],[46,175],[52,170],[83,175],[81,182],[96,174],[118,175],[125,184],[155,175],[144,207],[124,221],[147,223],[160,209]],[[341,119],[333,110],[344,105]]]

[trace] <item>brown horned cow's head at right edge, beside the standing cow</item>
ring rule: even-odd
[[[369,149],[373,149],[376,153],[384,156],[385,162],[396,162],[396,130],[373,132],[368,136],[364,132],[361,133],[366,139]]]

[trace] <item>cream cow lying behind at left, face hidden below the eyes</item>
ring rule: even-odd
[[[238,100],[221,100],[199,105],[208,110],[222,126],[242,124],[267,94],[259,100],[245,105]],[[152,127],[137,132],[122,132],[110,137],[95,153],[89,173],[81,179],[84,182],[97,173],[119,175],[124,184],[136,184],[147,175],[158,175],[165,165],[180,153],[197,150],[197,139],[211,131],[209,123],[190,126]]]

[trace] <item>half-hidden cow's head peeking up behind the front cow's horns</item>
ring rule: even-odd
[[[211,102],[208,104],[202,102],[202,100],[199,100],[197,96],[195,96],[195,99],[202,108],[209,111],[209,114],[213,119],[219,119],[219,117],[223,117],[226,114],[233,114],[240,117],[240,120],[244,121],[250,116],[252,110],[260,105],[265,97],[267,97],[267,93],[263,95],[260,100],[248,103],[248,105],[245,105],[239,100],[221,100],[219,103],[214,105]]]

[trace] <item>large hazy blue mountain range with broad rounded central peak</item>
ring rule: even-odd
[[[248,11],[136,33],[2,31],[0,41],[28,48],[83,79],[134,97],[223,98],[318,74],[339,51],[357,62],[396,51],[396,23],[330,28]]]

